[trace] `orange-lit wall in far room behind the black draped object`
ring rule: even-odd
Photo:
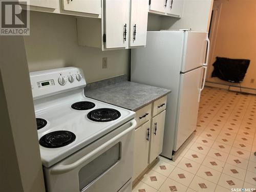
[[[250,59],[250,66],[241,86],[256,89],[256,1],[218,0],[215,3],[222,5],[213,58]],[[212,62],[214,61],[215,59]],[[209,64],[212,65],[212,62]],[[213,67],[209,66],[207,81],[238,85],[209,77],[212,70]],[[250,83],[252,78],[255,79],[254,83]]]

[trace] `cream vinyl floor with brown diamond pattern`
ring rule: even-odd
[[[175,162],[159,157],[133,192],[256,191],[256,96],[206,87],[195,137]]]

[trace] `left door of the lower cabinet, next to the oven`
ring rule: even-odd
[[[147,121],[135,130],[133,180],[136,179],[148,165],[150,126],[151,121]]]

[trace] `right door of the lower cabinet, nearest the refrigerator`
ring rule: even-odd
[[[164,133],[165,110],[152,119],[150,162],[162,153]]]

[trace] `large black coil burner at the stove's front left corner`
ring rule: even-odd
[[[41,146],[57,148],[66,146],[75,140],[76,136],[69,131],[55,131],[42,136],[39,140]]]

